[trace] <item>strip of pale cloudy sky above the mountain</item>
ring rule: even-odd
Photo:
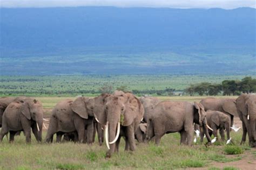
[[[155,8],[256,8],[255,0],[0,0],[1,7],[117,6]]]

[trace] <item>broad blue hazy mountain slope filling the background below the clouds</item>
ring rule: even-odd
[[[206,72],[208,65],[220,66],[220,73],[255,71],[252,8],[0,10],[1,74],[56,74],[70,63],[75,66],[58,74],[112,74],[124,67],[129,73],[200,73],[198,66],[215,73]]]

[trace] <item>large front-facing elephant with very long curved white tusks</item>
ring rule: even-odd
[[[110,158],[114,151],[118,152],[122,136],[125,138],[125,150],[135,151],[134,133],[144,115],[143,105],[133,94],[123,91],[103,96],[105,98],[101,103],[104,107],[97,107],[93,113],[96,120],[105,125],[105,142],[109,149],[106,157]]]

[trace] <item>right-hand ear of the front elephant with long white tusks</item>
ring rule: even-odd
[[[129,126],[134,122],[134,119],[139,115],[140,107],[142,106],[139,100],[136,97],[129,95],[128,100],[125,103],[124,120],[121,121],[123,126]]]

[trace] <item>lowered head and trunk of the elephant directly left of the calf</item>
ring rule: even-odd
[[[208,140],[208,143],[211,143],[211,137],[208,133],[208,128],[210,128],[207,124],[206,112],[203,104],[194,102],[194,123],[199,124],[200,128],[203,128],[204,134]],[[212,130],[212,129],[211,129]]]

